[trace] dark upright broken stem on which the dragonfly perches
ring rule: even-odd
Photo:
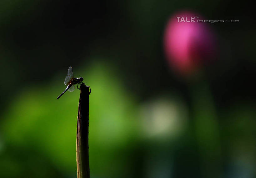
[[[90,86],[84,83],[80,86],[80,99],[77,117],[77,177],[90,178],[89,168],[89,146],[88,146],[88,127],[89,127],[89,94]]]

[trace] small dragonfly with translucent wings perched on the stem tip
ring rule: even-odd
[[[66,91],[74,91],[75,87],[74,85],[77,84],[77,88],[78,88],[78,84],[82,84],[83,82],[83,77],[79,77],[79,78],[74,78],[73,75],[73,69],[70,66],[68,68],[68,76],[65,78],[64,84],[67,85],[67,88],[58,96],[57,100],[66,92]],[[79,89],[79,88],[78,88]]]

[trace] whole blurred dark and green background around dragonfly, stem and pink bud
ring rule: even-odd
[[[255,177],[255,15],[233,1],[1,1],[0,177],[76,177],[79,91],[91,86],[91,177]],[[163,32],[188,9],[218,57],[199,76],[169,68]],[[173,114],[174,113],[174,114]],[[158,126],[159,125],[159,126]]]

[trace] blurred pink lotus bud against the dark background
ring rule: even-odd
[[[191,74],[208,64],[215,54],[215,38],[207,22],[192,12],[178,12],[168,21],[164,32],[164,51],[170,67]]]

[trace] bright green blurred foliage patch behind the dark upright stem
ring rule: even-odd
[[[125,155],[139,139],[134,99],[125,92],[110,68],[93,65],[81,69],[74,69],[75,74],[85,76],[85,80],[92,86],[89,110],[89,146],[93,148],[90,149],[91,174],[114,177],[128,172],[128,165],[124,166],[128,164]],[[62,81],[64,76],[59,80]],[[1,164],[16,169],[12,164],[18,160],[9,152],[8,147],[11,146],[16,151],[20,149],[21,152],[28,152],[24,161],[28,161],[27,164],[32,167],[40,169],[40,162],[49,160],[58,173],[61,170],[66,170],[68,175],[76,172],[75,138],[79,91],[65,93],[60,100],[56,100],[56,96],[65,89],[64,85],[60,86],[57,87],[55,80],[51,80],[45,85],[27,86],[15,97],[3,115],[4,121],[1,124],[4,138],[1,153],[12,157],[1,159]],[[35,154],[34,157],[30,156],[30,151],[32,155]],[[45,158],[41,160],[37,157],[40,155]],[[6,160],[9,165],[6,165]],[[18,167],[20,171],[13,171],[13,174],[16,173],[13,176],[26,176],[27,171],[23,170],[27,166]],[[31,177],[40,175],[40,172],[31,173]]]

